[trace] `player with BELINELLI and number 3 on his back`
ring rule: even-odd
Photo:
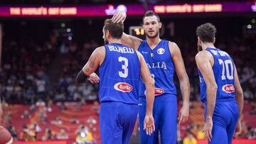
[[[102,144],[127,144],[137,119],[140,77],[146,85],[146,116],[144,130],[154,131],[154,82],[142,55],[121,44],[122,23],[105,21],[105,46],[96,48],[78,73],[77,82],[85,82],[95,70],[100,71],[100,135]],[[90,77],[89,80],[92,80]],[[95,80],[95,79],[94,79]],[[93,80],[92,80],[93,81]],[[97,81],[97,78],[95,82]]]

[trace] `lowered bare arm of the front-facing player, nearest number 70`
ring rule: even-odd
[[[183,99],[183,106],[181,111],[178,113],[178,123],[183,123],[188,120],[189,116],[189,96],[190,96],[190,84],[188,79],[188,74],[184,66],[184,62],[181,56],[181,50],[178,48],[176,43],[169,42],[169,49],[171,51],[171,56],[174,60],[176,74],[178,75],[178,80],[180,82],[181,94]]]

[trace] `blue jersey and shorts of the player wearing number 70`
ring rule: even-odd
[[[239,117],[238,104],[235,101],[235,66],[227,52],[218,48],[206,48],[213,55],[213,73],[218,86],[213,113],[213,140],[210,143],[232,143]],[[198,70],[201,88],[201,101],[207,107],[206,82]],[[206,111],[205,111],[206,116]]]

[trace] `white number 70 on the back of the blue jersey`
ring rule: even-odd
[[[225,80],[226,77],[227,79],[234,79],[234,66],[233,66],[233,62],[231,60],[219,60],[219,64],[222,65],[223,70],[222,70],[222,74],[221,74],[221,79]]]

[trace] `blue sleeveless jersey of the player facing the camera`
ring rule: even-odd
[[[151,77],[155,82],[155,95],[174,94],[176,87],[174,85],[174,62],[169,50],[169,41],[161,40],[159,45],[151,50],[146,40],[139,45],[139,52],[142,53],[147,67],[151,72]],[[139,82],[139,96],[146,96],[146,87],[144,83]]]

